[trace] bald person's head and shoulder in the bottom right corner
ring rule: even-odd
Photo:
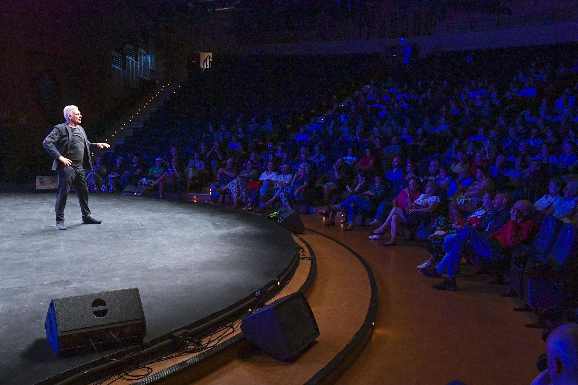
[[[555,328],[546,339],[548,368],[531,385],[578,384],[578,325]]]

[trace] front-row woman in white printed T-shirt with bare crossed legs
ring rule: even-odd
[[[386,244],[383,244],[383,246],[397,246],[397,242],[395,240],[397,238],[397,230],[399,225],[405,222],[410,227],[410,229],[417,228],[417,226],[419,226],[422,221],[423,213],[431,214],[436,210],[436,208],[438,208],[440,203],[438,194],[439,184],[433,181],[429,181],[425,186],[425,193],[418,196],[417,199],[414,200],[412,204],[407,206],[405,210],[402,210],[399,207],[392,208],[390,215],[386,219],[386,222],[384,222],[383,225],[373,231],[372,237],[374,238],[370,237],[370,239],[379,239],[375,238],[375,236],[382,236],[385,234],[386,229],[390,228],[391,239]]]

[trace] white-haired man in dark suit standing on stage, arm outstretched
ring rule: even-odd
[[[90,148],[109,148],[108,143],[91,143],[86,138],[84,129],[80,126],[82,115],[76,106],[64,107],[65,123],[55,125],[50,134],[42,142],[54,162],[52,169],[58,173],[58,193],[56,195],[56,228],[66,230],[64,225],[64,207],[71,184],[80,202],[83,223],[101,223],[95,219],[88,208],[88,186],[84,174],[84,151],[88,152],[88,163],[92,169]]]

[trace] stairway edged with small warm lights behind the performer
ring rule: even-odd
[[[132,136],[136,128],[142,128],[144,121],[150,118],[159,106],[168,100],[171,95],[179,88],[179,84],[174,81],[161,83],[153,89],[153,92],[136,103],[136,106],[123,117],[114,122],[112,128],[107,130],[105,134],[98,138],[99,142],[110,144],[110,148],[105,150],[95,150],[94,156],[100,156],[103,153],[112,153],[114,147],[118,144],[123,144],[127,136]]]

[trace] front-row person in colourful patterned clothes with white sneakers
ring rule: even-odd
[[[473,212],[472,215],[468,216],[468,218],[460,219],[458,220],[458,222],[451,223],[451,221],[447,219],[445,216],[439,216],[433,223],[433,226],[435,227],[436,231],[435,233],[431,234],[431,236],[428,237],[428,240],[432,242],[443,240],[445,242],[446,238],[450,240],[451,239],[450,237],[455,236],[455,234],[457,234],[458,231],[461,231],[466,226],[476,227],[480,223],[483,223],[483,221],[490,214],[492,207],[494,207],[494,201],[492,200],[492,196],[490,193],[485,193],[481,207],[477,209],[475,212]],[[434,262],[435,256],[430,255],[429,259],[420,266],[418,266],[417,268],[422,269],[426,267],[431,267],[433,266]]]

